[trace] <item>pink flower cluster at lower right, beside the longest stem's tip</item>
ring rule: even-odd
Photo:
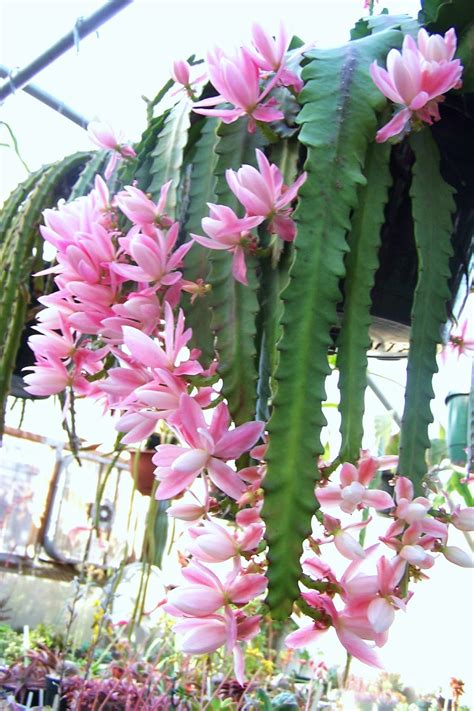
[[[393,462],[389,464],[393,466]],[[395,551],[395,556],[379,554],[374,573],[361,572],[361,566],[376,557],[379,544],[364,549],[348,530],[365,528],[370,518],[343,527],[339,519],[320,512],[323,537],[316,538],[317,533],[313,533],[302,559],[300,609],[313,622],[292,632],[286,638],[288,647],[307,646],[332,627],[349,654],[366,664],[381,666],[374,646],[386,643],[396,611],[405,610],[413,595],[409,582],[426,577],[422,571],[434,565],[433,553],[440,552],[463,567],[473,565],[467,553],[447,545],[447,523],[464,531],[474,530],[474,510],[456,509],[451,515],[434,517],[429,500],[414,498],[413,485],[406,477],[396,477],[395,500],[384,491],[367,488],[381,465],[386,467],[387,461],[370,457],[361,459],[357,469],[346,463],[340,469],[339,486],[318,487],[316,496],[323,509],[338,506],[345,514],[366,507],[389,512],[392,521],[380,542]],[[321,546],[329,542],[351,561],[340,577],[322,560]],[[340,609],[336,596],[342,603]]]

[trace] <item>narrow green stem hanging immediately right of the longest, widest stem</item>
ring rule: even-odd
[[[362,446],[367,350],[371,343],[370,292],[379,264],[380,228],[391,183],[389,159],[389,145],[372,143],[369,146],[364,169],[367,184],[359,189],[348,239],[350,252],[345,263],[344,313],[336,361],[340,371],[340,459],[343,462],[355,463]]]

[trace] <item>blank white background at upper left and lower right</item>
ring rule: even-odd
[[[0,0],[0,63],[15,68],[30,62],[71,30],[78,17],[102,4]],[[416,0],[386,0],[383,5],[393,13],[414,15],[419,9]],[[192,53],[204,57],[214,44],[230,49],[247,43],[253,21],[275,32],[283,20],[305,42],[337,45],[348,39],[362,6],[362,0],[135,0],[98,36],[84,39],[78,52],[70,50],[34,81],[87,118],[106,120],[136,140],[145,125],[141,96],[153,97],[169,78],[174,59]],[[30,169],[91,147],[81,128],[22,92],[5,101],[0,120],[13,129]],[[0,142],[6,139],[0,127]],[[24,177],[13,151],[0,147],[0,199]],[[458,539],[452,543],[465,547]],[[450,677],[457,676],[472,694],[472,575],[442,560],[430,578],[417,586],[408,613],[397,613],[382,657],[389,671],[401,672],[406,683],[420,690],[442,686],[447,691]],[[335,647],[330,645],[328,653],[336,654]],[[361,675],[364,669],[357,665]]]

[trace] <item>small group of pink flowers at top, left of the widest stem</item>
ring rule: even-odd
[[[248,130],[252,133],[258,122],[271,123],[284,117],[275,97],[269,98],[270,92],[282,86],[298,93],[303,86],[299,76],[288,68],[292,59],[288,54],[289,38],[283,26],[275,39],[254,25],[252,45],[239,47],[233,55],[220,48],[208,53],[209,78],[218,94],[195,103],[196,113],[216,116],[224,123],[248,117]],[[184,74],[182,78],[187,79]],[[232,108],[208,108],[222,103],[231,104]]]

